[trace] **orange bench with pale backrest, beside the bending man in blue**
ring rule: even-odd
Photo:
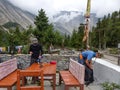
[[[80,90],[84,90],[84,75],[85,67],[70,59],[69,70],[59,71],[59,84],[63,80],[65,90],[69,90],[69,87],[80,87]]]

